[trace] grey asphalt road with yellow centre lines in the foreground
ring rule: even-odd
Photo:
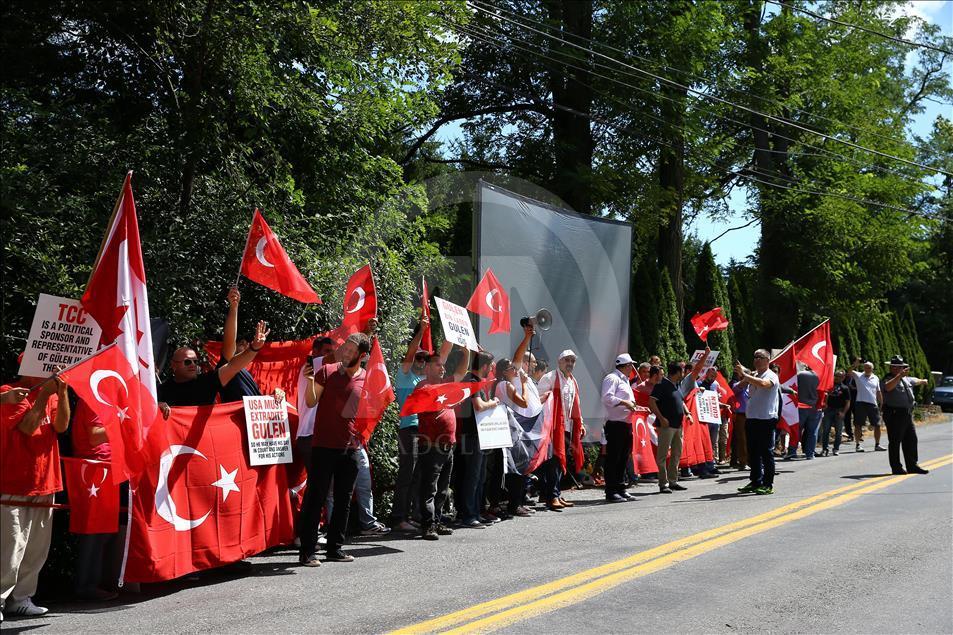
[[[953,633],[953,466],[938,461],[951,424],[918,430],[921,464],[939,465],[925,476],[886,476],[886,453],[846,447],[780,463],[773,496],[737,495],[739,472],[671,496],[642,485],[625,504],[572,492],[562,513],[435,543],[356,539],[355,562],[317,569],[273,552],[249,575],[52,602],[3,630]]]

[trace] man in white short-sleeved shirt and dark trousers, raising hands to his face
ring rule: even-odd
[[[739,492],[774,493],[774,430],[778,424],[779,386],[777,374],[768,368],[770,354],[763,348],[754,352],[754,371],[735,362],[735,373],[741,379],[736,387],[748,386],[745,434],[748,442],[748,463],[751,482]]]

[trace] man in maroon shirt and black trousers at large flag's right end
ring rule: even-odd
[[[318,559],[318,522],[328,498],[331,480],[334,480],[334,510],[328,523],[327,560],[350,562],[354,560],[341,551],[347,516],[351,509],[351,494],[357,479],[357,453],[361,440],[354,429],[358,405],[364,391],[367,371],[361,368],[361,358],[371,350],[367,335],[349,335],[335,353],[333,364],[325,364],[314,373],[313,366],[305,366],[307,378],[305,401],[309,408],[317,407],[314,415],[314,434],[311,450],[311,471],[301,510],[301,551],[298,561],[307,567],[320,566]]]

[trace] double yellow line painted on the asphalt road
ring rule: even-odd
[[[923,467],[936,469],[951,463],[953,463],[953,454],[924,463]],[[629,580],[654,573],[678,562],[684,562],[718,547],[805,518],[819,511],[843,505],[864,494],[889,487],[907,478],[910,478],[910,475],[878,477],[839,487],[757,516],[699,532],[547,584],[412,624],[394,631],[394,633],[475,633],[496,630],[570,604],[576,604]]]

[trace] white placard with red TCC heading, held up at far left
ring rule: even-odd
[[[20,363],[24,377],[49,377],[99,350],[103,330],[79,300],[41,293]]]

